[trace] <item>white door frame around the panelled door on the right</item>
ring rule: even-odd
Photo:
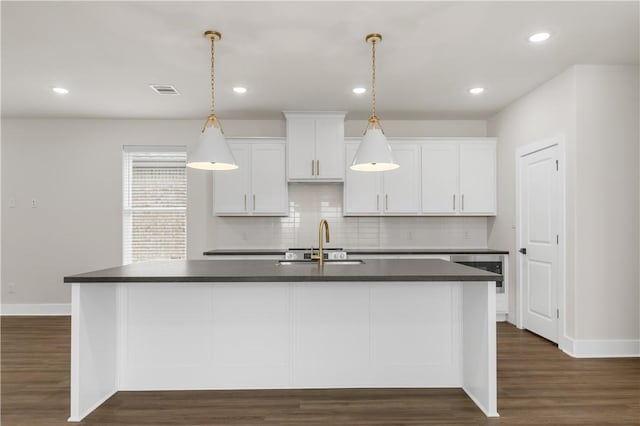
[[[557,295],[556,300],[558,303],[558,309],[560,309],[560,315],[558,318],[558,348],[565,349],[568,347],[568,340],[566,334],[566,312],[567,312],[567,301],[566,301],[566,142],[564,134],[558,134],[549,138],[540,139],[538,141],[523,145],[516,149],[515,154],[515,163],[516,163],[516,326],[520,329],[524,328],[524,297],[523,297],[523,288],[522,288],[522,271],[523,267],[523,256],[518,253],[518,249],[522,247],[522,194],[520,192],[521,179],[520,174],[522,172],[522,167],[520,165],[522,157],[533,154],[537,151],[542,151],[545,148],[550,148],[556,145],[558,147],[558,161],[560,163],[560,167],[558,170],[558,208],[556,223],[558,224],[558,235],[559,235],[559,244],[558,244],[558,256],[557,256]]]

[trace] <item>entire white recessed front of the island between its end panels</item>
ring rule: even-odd
[[[462,386],[459,282],[124,286],[120,390]]]

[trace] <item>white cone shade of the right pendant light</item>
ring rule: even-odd
[[[382,130],[367,129],[350,169],[358,172],[384,172],[398,167],[400,165],[396,162]]]

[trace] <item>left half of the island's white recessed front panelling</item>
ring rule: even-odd
[[[289,386],[288,283],[126,285],[120,390]]]

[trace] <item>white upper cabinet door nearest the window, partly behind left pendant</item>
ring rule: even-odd
[[[238,163],[235,170],[213,172],[213,212],[244,215],[249,213],[250,169],[248,144],[230,144]]]

